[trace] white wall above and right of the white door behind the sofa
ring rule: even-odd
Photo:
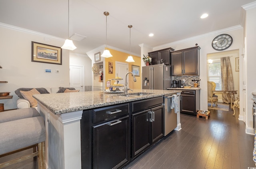
[[[70,52],[69,62],[70,65],[84,66],[84,85],[92,86],[92,60],[85,54]]]

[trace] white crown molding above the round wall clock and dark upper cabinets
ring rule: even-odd
[[[158,49],[168,48],[168,47],[174,46],[176,44],[181,44],[181,43],[184,43],[184,42],[188,42],[190,40],[197,40],[197,39],[200,39],[200,38],[204,38],[204,37],[208,37],[208,36],[213,36],[213,35],[215,36],[216,34],[222,34],[222,33],[225,33],[225,32],[229,32],[229,31],[233,31],[233,30],[238,30],[238,29],[242,29],[242,26],[241,25],[232,26],[232,27],[225,28],[225,29],[222,29],[222,30],[217,30],[217,31],[214,31],[214,32],[210,32],[210,33],[207,33],[207,34],[193,36],[191,38],[187,38],[187,39],[183,39],[183,40],[178,40],[176,42],[171,42],[169,44],[164,44],[164,45],[161,45],[161,46],[156,46],[156,47],[153,48],[153,51],[154,50],[158,50]]]

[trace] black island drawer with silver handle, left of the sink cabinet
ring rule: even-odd
[[[93,123],[108,121],[129,114],[129,104],[114,105],[93,110]]]

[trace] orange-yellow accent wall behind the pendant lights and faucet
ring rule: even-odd
[[[110,53],[113,55],[113,57],[105,58],[105,78],[108,79],[114,79],[116,77],[116,61],[117,62],[124,62],[128,63],[128,72],[132,72],[132,65],[140,66],[140,57],[132,55],[135,62],[126,62],[125,60],[128,58],[130,54],[120,52],[117,50],[109,49],[107,48]],[[108,62],[113,62],[113,74],[108,73]],[[142,76],[140,72],[140,76]],[[136,82],[133,82],[133,78],[129,76],[129,87],[131,89],[141,89],[141,78],[140,76],[136,76]],[[124,77],[122,77],[124,78]],[[106,80],[104,80],[105,86],[106,86]],[[108,87],[106,87],[108,89]]]

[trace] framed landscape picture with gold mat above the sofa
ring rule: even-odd
[[[32,42],[32,62],[62,65],[62,48]]]

